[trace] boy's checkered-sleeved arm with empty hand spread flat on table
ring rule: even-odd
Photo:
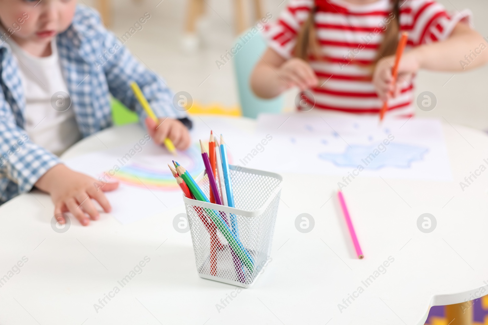
[[[105,186],[87,175],[69,170],[56,155],[30,141],[25,130],[15,122],[3,92],[0,92],[0,175],[1,201],[30,192],[36,186],[51,194],[54,214],[69,211],[84,226],[89,223],[85,213],[93,220],[99,218],[88,196],[108,212],[110,205],[102,191],[97,191],[97,186],[107,191],[117,187],[117,184]],[[62,217],[58,221],[65,222]]]

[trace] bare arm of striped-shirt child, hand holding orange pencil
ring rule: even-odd
[[[394,97],[399,95],[400,85],[405,80],[410,82],[412,75],[419,69],[434,71],[464,71],[484,65],[488,61],[488,51],[484,51],[488,45],[483,37],[475,30],[469,28],[464,22],[459,22],[454,27],[451,35],[444,41],[420,45],[406,52],[400,60],[398,67],[398,81],[391,85],[391,67],[394,64],[395,56],[385,57],[380,60],[375,68],[373,83],[378,96],[386,100],[389,91]],[[474,57],[470,51],[475,51]],[[471,58],[469,58],[471,55]],[[461,61],[468,63],[465,56],[468,56],[470,63],[461,64]]]

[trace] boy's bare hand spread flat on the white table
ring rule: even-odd
[[[103,191],[113,191],[117,189],[119,183],[100,182],[59,164],[42,175],[35,185],[38,189],[51,194],[54,214],[60,224],[66,222],[61,213],[71,212],[81,225],[88,226],[90,220],[87,214],[92,220],[100,218],[100,213],[91,199],[96,200],[105,212],[110,212],[112,208]]]

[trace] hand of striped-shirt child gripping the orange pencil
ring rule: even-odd
[[[413,75],[420,67],[419,60],[413,51],[404,53],[398,65],[396,84],[391,84],[393,76],[391,69],[395,65],[395,56],[385,57],[378,61],[373,73],[373,84],[378,97],[385,101],[400,95],[402,85],[411,83]],[[391,96],[392,94],[392,96]]]

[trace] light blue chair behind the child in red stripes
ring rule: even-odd
[[[244,32],[241,38],[244,38],[247,32],[249,31]],[[284,105],[283,95],[272,99],[262,99],[254,95],[251,89],[249,78],[254,66],[261,59],[259,56],[264,54],[267,45],[261,32],[252,37],[249,37],[250,35],[252,32],[248,34],[245,44],[241,38],[236,39],[242,48],[234,55],[234,67],[243,116],[256,118],[259,113],[281,113]]]

